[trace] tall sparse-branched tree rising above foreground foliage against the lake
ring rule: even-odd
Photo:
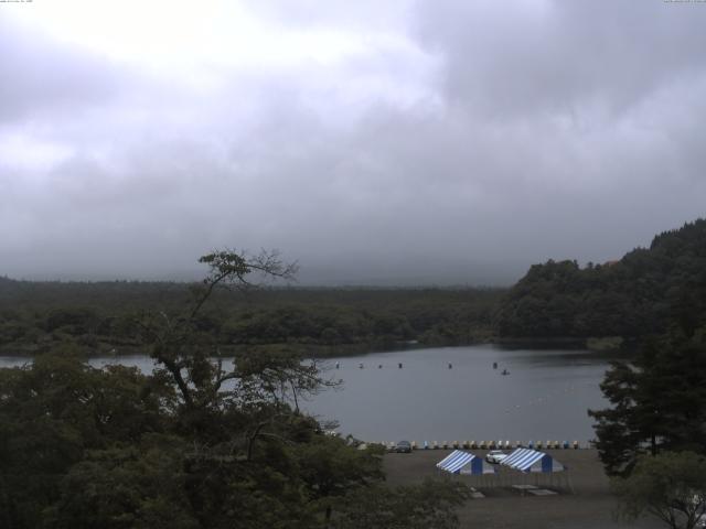
[[[190,289],[190,303],[181,312],[143,314],[138,322],[158,364],[156,373],[179,389],[176,411],[182,428],[193,433],[192,457],[250,461],[259,443],[287,444],[297,432],[320,430],[300,413],[300,402],[340,382],[325,379],[317,360],[303,360],[285,347],[238,350],[225,359],[213,337],[199,331],[199,319],[216,292],[291,280],[296,263],[285,263],[276,251],[248,256],[229,249],[199,262],[208,272]]]

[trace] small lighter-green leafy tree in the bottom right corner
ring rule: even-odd
[[[706,458],[693,452],[641,456],[632,474],[613,478],[619,515],[648,512],[672,529],[693,529],[706,509]]]

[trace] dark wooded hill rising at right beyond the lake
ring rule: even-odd
[[[706,323],[706,219],[657,235],[616,262],[533,266],[504,296],[500,336],[639,337]]]

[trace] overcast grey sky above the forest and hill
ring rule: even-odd
[[[0,276],[503,284],[706,210],[706,2],[0,2]]]

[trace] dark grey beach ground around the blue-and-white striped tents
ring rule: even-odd
[[[474,450],[484,456],[485,451]],[[498,529],[595,529],[631,528],[656,529],[664,527],[656,519],[641,519],[625,523],[613,519],[616,499],[610,494],[609,481],[595,450],[549,450],[557,461],[569,468],[566,479],[539,478],[539,486],[558,494],[536,497],[523,495],[513,484],[534,484],[534,476],[523,476],[502,468],[496,479],[482,482],[473,476],[454,476],[473,486],[485,496],[468,500],[458,515],[462,528]],[[436,463],[446,457],[448,450],[418,450],[411,454],[387,454],[384,466],[391,485],[405,485],[437,476]]]

